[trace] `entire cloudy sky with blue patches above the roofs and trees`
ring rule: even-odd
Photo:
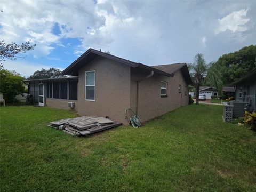
[[[256,44],[255,1],[0,1],[0,36],[36,43],[4,67],[65,69],[89,47],[146,65],[206,62]]]

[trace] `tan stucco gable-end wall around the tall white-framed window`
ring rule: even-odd
[[[95,70],[95,101],[85,100],[85,72]],[[106,117],[125,125],[130,106],[130,66],[98,57],[79,70],[78,114]]]

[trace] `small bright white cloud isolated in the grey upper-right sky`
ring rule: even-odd
[[[248,28],[246,23],[250,21],[249,18],[245,18],[248,9],[241,9],[239,11],[233,11],[222,19],[218,19],[219,25],[215,29],[214,33],[217,35],[226,30],[235,32],[244,32]]]

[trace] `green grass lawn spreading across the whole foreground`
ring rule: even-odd
[[[47,126],[66,110],[0,111],[0,191],[256,191],[255,132],[223,123],[222,106],[84,138]]]

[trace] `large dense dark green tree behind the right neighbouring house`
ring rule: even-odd
[[[215,65],[221,68],[223,85],[229,85],[256,67],[256,45],[223,54]],[[215,65],[213,67],[216,67]]]

